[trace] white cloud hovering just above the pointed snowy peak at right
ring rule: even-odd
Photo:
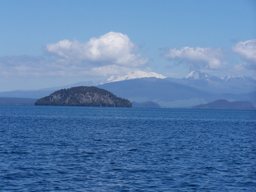
[[[164,55],[168,60],[174,59],[185,62],[193,69],[222,69],[227,66],[225,62],[221,61],[223,53],[221,48],[213,49],[201,47],[182,47],[180,50],[169,49],[168,53]]]

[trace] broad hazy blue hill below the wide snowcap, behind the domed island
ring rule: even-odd
[[[247,94],[216,94],[189,85],[155,77],[137,78],[97,85],[130,101],[153,101],[161,107],[191,107],[219,99],[256,103],[256,91]]]

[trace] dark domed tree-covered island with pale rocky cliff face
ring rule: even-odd
[[[40,98],[35,105],[88,106],[88,107],[132,107],[132,103],[112,92],[94,86],[72,87],[53,92]]]

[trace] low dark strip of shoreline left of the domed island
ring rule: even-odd
[[[37,99],[0,97],[0,105],[34,105]]]

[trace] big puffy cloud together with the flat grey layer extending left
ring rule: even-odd
[[[134,54],[135,43],[122,33],[109,32],[88,42],[62,40],[49,43],[42,56],[0,57],[5,77],[109,76],[146,67],[148,58]]]

